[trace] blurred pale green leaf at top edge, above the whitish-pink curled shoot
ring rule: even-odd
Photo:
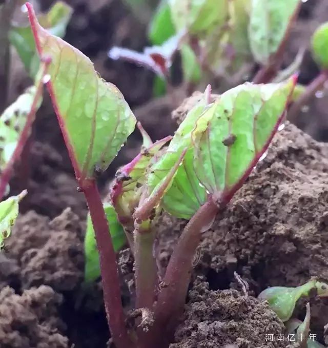
[[[206,36],[214,27],[223,26],[228,18],[228,0],[168,0],[177,31]]]

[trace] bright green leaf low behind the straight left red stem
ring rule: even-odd
[[[117,220],[114,208],[109,203],[104,204],[104,210],[109,224],[109,230],[115,252],[126,243],[126,236]],[[90,214],[87,217],[87,232],[84,240],[85,251],[85,281],[92,282],[100,277],[99,255]]]

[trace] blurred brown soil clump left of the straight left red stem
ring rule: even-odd
[[[79,218],[69,208],[52,221],[35,212],[20,215],[6,254],[19,264],[22,288],[46,284],[72,291],[83,277],[82,238]]]

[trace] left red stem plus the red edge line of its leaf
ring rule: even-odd
[[[38,38],[37,23],[35,13],[31,4],[26,3],[29,13],[31,28],[33,31],[35,45],[39,55],[42,57],[42,46]],[[56,94],[53,89],[51,80],[46,84],[54,111],[57,115],[58,124],[63,134],[65,145],[67,147],[72,166],[74,168],[75,177],[78,185],[84,192],[93,223],[97,248],[99,251],[100,272],[103,282],[104,302],[107,314],[108,326],[111,331],[114,343],[117,348],[131,348],[133,343],[129,338],[129,334],[125,325],[125,314],[121,302],[120,282],[116,263],[116,255],[114,252],[112,239],[110,236],[109,226],[106,214],[101,201],[95,180],[83,177],[78,162],[75,158],[73,146],[70,142],[65,122],[61,117],[57,106]]]

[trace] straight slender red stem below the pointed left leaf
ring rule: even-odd
[[[105,309],[113,341],[117,348],[133,347],[125,325],[125,314],[121,302],[116,255],[109,233],[103,202],[101,201],[94,180],[84,180],[84,182],[80,184],[80,187],[85,194],[95,231],[97,248],[99,251]]]

